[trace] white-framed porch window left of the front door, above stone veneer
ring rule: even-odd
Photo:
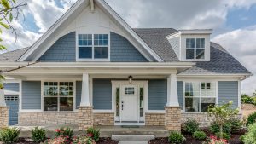
[[[74,82],[44,82],[44,111],[73,111]]]

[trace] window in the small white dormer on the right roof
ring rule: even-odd
[[[205,59],[205,38],[186,39],[186,59],[201,60]]]

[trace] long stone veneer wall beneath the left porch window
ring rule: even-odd
[[[79,124],[78,112],[19,112],[19,124]]]

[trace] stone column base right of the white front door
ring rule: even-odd
[[[166,107],[166,130],[181,131],[181,107]]]

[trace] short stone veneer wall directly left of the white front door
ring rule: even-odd
[[[114,125],[114,113],[93,113],[93,125]]]

